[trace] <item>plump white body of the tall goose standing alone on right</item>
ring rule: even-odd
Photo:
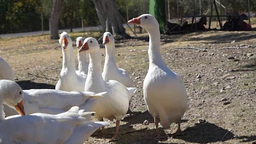
[[[148,111],[154,118],[159,116],[164,127],[180,120],[188,109],[182,78],[167,66],[160,68],[150,64],[143,92]]]

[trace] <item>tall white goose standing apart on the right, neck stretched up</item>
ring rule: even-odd
[[[172,134],[176,136],[181,132],[181,118],[188,109],[187,93],[182,78],[170,70],[164,63],[160,53],[159,24],[152,15],[143,14],[129,20],[130,24],[140,25],[149,34],[149,68],[143,84],[144,100],[148,111],[154,117],[156,136],[161,137],[158,122],[169,127],[173,122],[178,123],[178,130]]]

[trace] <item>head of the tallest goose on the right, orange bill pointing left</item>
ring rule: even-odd
[[[159,24],[156,18],[154,18],[154,16],[150,14],[142,14],[137,18],[133,18],[132,20],[129,20],[128,23],[139,25],[142,28],[145,28],[147,31],[153,28],[159,28]]]

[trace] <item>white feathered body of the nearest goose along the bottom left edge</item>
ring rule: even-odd
[[[108,125],[86,121],[78,110],[76,106],[57,115],[7,117],[0,122],[2,144],[83,144],[98,128]]]

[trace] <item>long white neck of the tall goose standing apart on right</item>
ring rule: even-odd
[[[150,64],[157,66],[166,66],[160,53],[160,31],[159,28],[152,28],[148,30],[149,34],[149,48],[148,57]]]

